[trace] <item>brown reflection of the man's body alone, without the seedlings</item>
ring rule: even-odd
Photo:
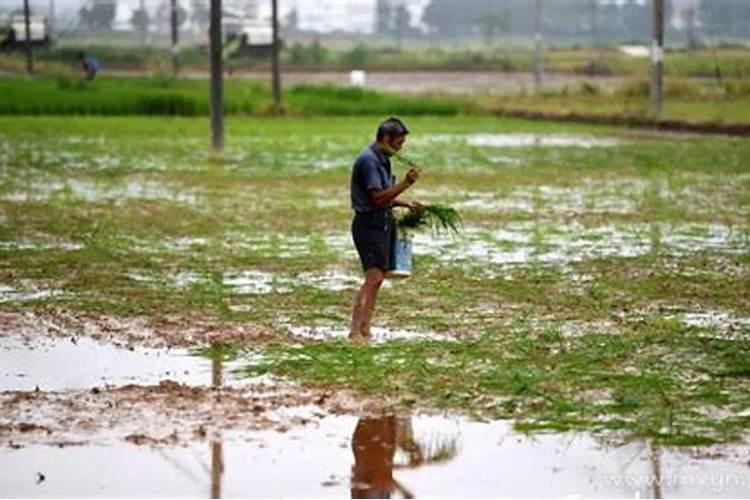
[[[404,498],[414,498],[393,478],[397,425],[393,415],[357,422],[352,437],[352,498],[391,498],[396,490]]]

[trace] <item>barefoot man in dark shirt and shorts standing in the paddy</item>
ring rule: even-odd
[[[417,181],[422,170],[410,169],[398,183],[391,174],[390,157],[403,147],[408,134],[401,120],[388,118],[378,127],[375,142],[359,154],[352,167],[352,238],[365,273],[365,281],[354,299],[349,333],[349,338],[357,343],[370,340],[378,291],[391,268],[391,248],[396,239],[393,207],[420,206],[397,198]]]

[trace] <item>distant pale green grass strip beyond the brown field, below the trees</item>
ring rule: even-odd
[[[287,69],[348,70],[490,70],[533,71],[534,50],[529,43],[499,41],[492,46],[478,43],[406,43],[399,50],[388,41],[353,40],[292,40],[282,51],[282,63]],[[97,56],[109,69],[170,70],[171,52],[168,42],[161,46],[142,47],[138,42],[99,43],[66,40],[61,47],[40,52],[37,59],[42,68],[60,71],[70,68],[80,50]],[[671,77],[714,77],[717,69],[725,78],[750,77],[750,49],[743,46],[707,47],[693,51],[667,51],[665,73]],[[180,53],[188,68],[206,68],[205,48],[187,45]],[[263,59],[234,59],[237,69],[264,68]],[[645,78],[649,71],[648,58],[626,55],[617,46],[547,47],[545,67],[548,71],[580,74],[623,75]],[[0,69],[22,71],[23,55],[0,59]]]

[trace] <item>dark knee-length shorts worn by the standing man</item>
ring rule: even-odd
[[[352,221],[352,238],[363,271],[378,268],[385,272],[391,269],[396,240],[392,210],[357,212]]]

